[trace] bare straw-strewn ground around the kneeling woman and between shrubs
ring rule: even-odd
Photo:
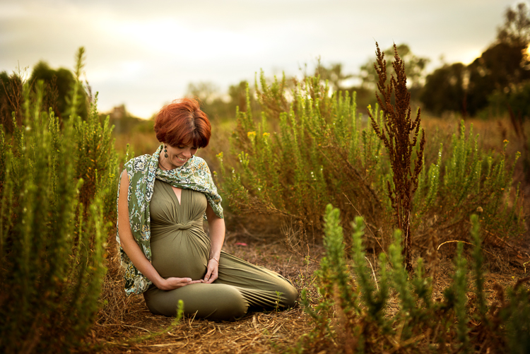
[[[237,222],[236,222],[237,223]],[[298,252],[287,247],[282,237],[272,235],[278,228],[256,232],[247,230],[247,223],[233,225],[236,231],[228,231],[223,249],[253,264],[266,266],[289,278],[300,291],[306,288],[316,299],[313,272],[324,254],[322,246],[302,247]],[[276,231],[273,231],[276,230]],[[258,235],[258,236],[255,236]],[[105,279],[102,302],[105,304],[98,321],[87,338],[88,353],[285,353],[294,350],[301,336],[312,329],[312,321],[300,305],[293,309],[273,312],[252,312],[235,322],[208,321],[187,318],[176,326],[172,319],[149,312],[142,296],[125,297],[122,274],[119,273],[115,243],[109,245],[109,271]],[[372,254],[367,255],[369,259]],[[451,282],[452,256],[446,254],[440,260],[434,296]],[[490,260],[492,261],[492,260]],[[501,260],[503,261],[503,260]],[[490,300],[495,298],[493,285],[503,288],[513,286],[525,276],[526,269],[513,266],[504,259],[504,266],[493,261],[485,280]],[[376,269],[377,271],[377,269]],[[530,271],[530,267],[529,267]],[[473,293],[469,293],[469,297]],[[388,310],[399,309],[396,301],[390,301]],[[320,352],[336,353],[336,349]]]

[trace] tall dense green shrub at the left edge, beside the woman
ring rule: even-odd
[[[80,49],[77,74],[82,57]],[[78,77],[76,85],[80,85]],[[14,122],[11,139],[1,134],[2,353],[61,352],[78,345],[98,312],[105,275],[107,224],[103,213],[115,197],[116,187],[107,186],[117,182],[110,177],[117,173],[115,153],[107,143],[110,129],[99,127],[98,135],[105,149],[100,158],[109,159],[107,163],[94,160],[80,168],[79,155],[93,155],[76,151],[89,146],[80,141],[90,141],[78,131],[88,126],[98,129],[95,106],[88,122],[81,122],[75,114],[78,95],[74,87],[73,114],[64,129],[59,129],[53,111],[42,107],[43,87],[38,83],[32,93],[25,85],[23,126]],[[90,177],[96,169],[95,187],[86,192],[81,177]]]

